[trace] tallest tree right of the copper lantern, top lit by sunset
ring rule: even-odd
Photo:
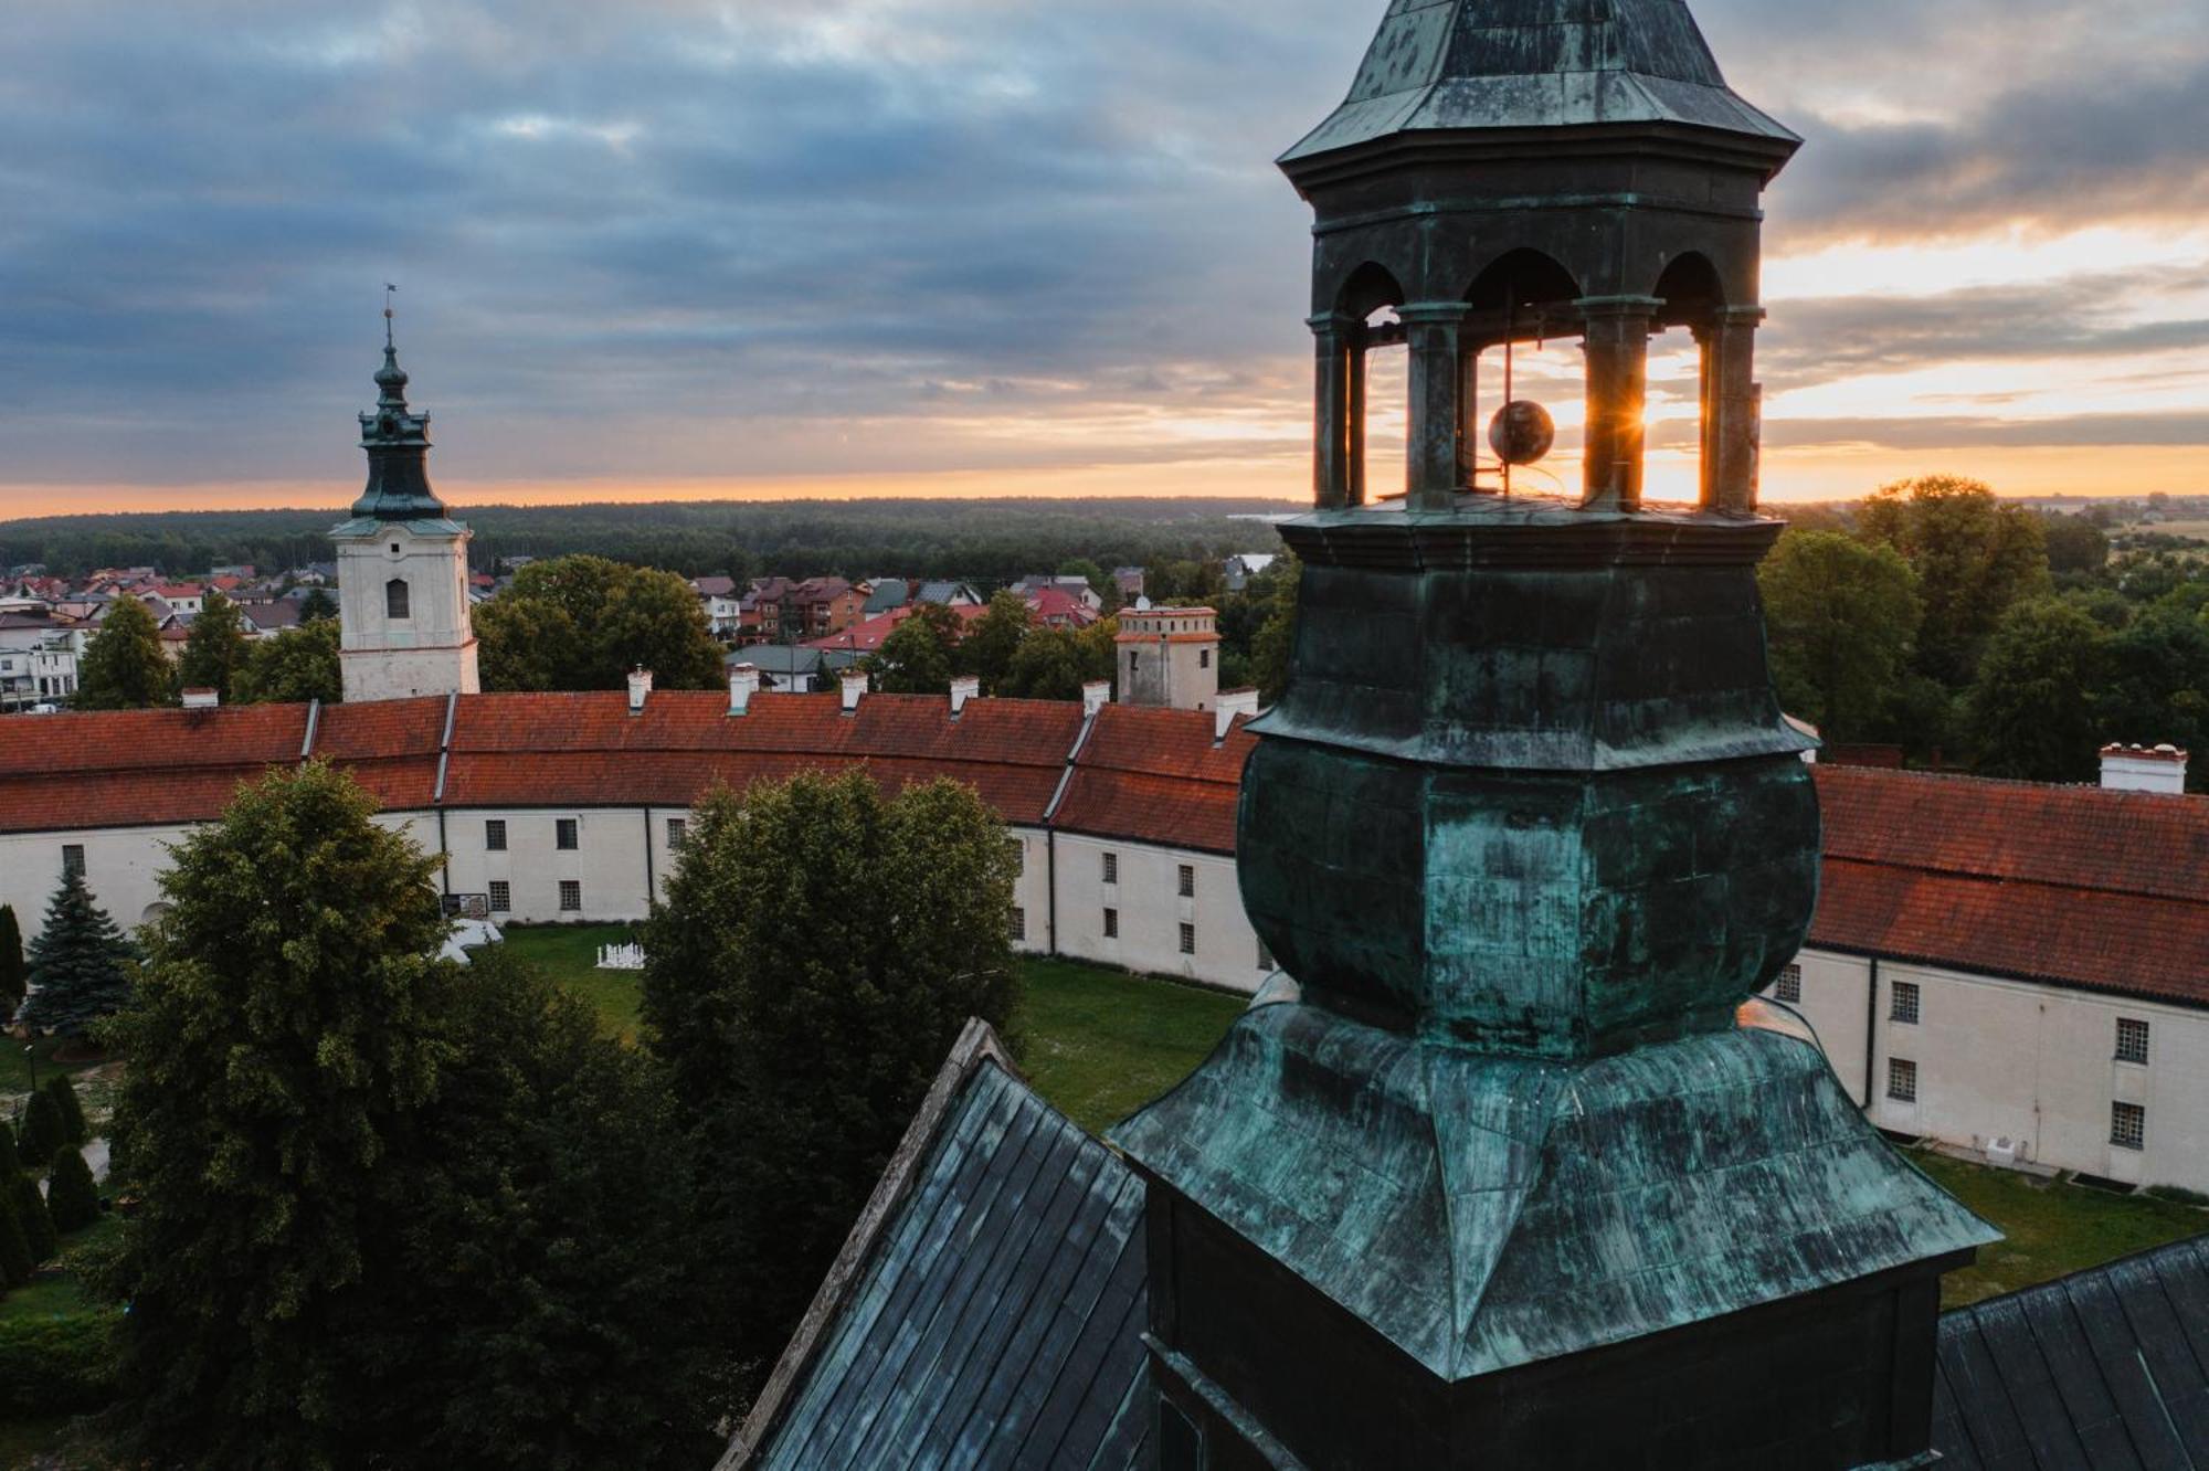
[[[2004,614],[2050,588],[2039,519],[2004,506],[1977,479],[1926,475],[1882,486],[1860,508],[1858,526],[1917,572],[1917,667],[1951,689],[1973,680]]]

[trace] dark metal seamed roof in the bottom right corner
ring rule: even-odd
[[[1955,1471],[2209,1467],[2209,1239],[1946,1314],[1933,1447]]]

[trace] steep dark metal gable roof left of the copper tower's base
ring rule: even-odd
[[[720,1471],[1120,1471],[1149,1436],[1142,1182],[970,1023]]]

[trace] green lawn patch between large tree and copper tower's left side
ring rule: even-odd
[[[1195,1071],[1248,1005],[1074,961],[1023,961],[1023,1062],[1036,1091],[1100,1133]]]

